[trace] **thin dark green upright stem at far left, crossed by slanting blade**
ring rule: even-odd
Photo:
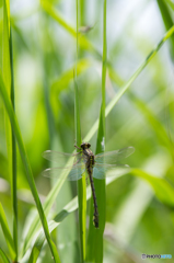
[[[15,111],[14,103],[14,76],[13,76],[13,47],[12,47],[12,31],[10,31],[10,61],[11,61],[11,102]],[[14,259],[18,262],[18,196],[16,196],[16,144],[15,136],[12,132],[12,204],[13,204],[13,240],[15,245]]]

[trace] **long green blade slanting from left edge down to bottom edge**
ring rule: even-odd
[[[37,193],[37,190],[36,190],[36,186],[35,186],[32,169],[31,169],[31,165],[30,165],[30,162],[28,162],[28,159],[27,159],[25,148],[24,148],[24,144],[23,144],[23,139],[22,139],[22,136],[21,136],[20,128],[19,128],[19,124],[18,124],[18,121],[16,121],[15,114],[13,112],[12,105],[10,103],[10,100],[8,98],[8,92],[5,90],[5,85],[4,85],[1,72],[0,72],[0,93],[1,93],[2,100],[4,102],[4,106],[5,106],[7,113],[9,115],[13,132],[15,134],[19,150],[20,150],[21,158],[22,158],[22,161],[23,161],[23,164],[24,164],[24,168],[25,168],[25,172],[26,172],[27,182],[30,184],[33,197],[34,197],[35,203],[36,203],[36,207],[37,207],[37,210],[38,210],[38,214],[39,214],[40,221],[43,224],[43,228],[44,228],[44,231],[45,231],[45,235],[46,235],[46,238],[47,238],[47,242],[49,244],[49,248],[50,248],[50,251],[53,253],[55,262],[60,262],[59,256],[58,256],[58,252],[56,250],[56,247],[53,243],[53,241],[50,239],[50,236],[49,236],[47,220],[46,220],[46,217],[44,215],[44,210],[43,210],[39,197],[38,197],[38,193]]]

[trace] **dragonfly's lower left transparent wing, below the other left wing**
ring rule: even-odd
[[[82,173],[85,171],[83,163],[76,164],[67,168],[49,168],[42,172],[46,178],[56,178],[59,180],[77,181],[81,179]]]

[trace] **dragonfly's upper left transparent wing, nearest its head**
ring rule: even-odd
[[[73,159],[73,162],[77,162],[81,157],[81,152],[63,153],[59,151],[47,150],[43,152],[43,157],[48,161],[57,162],[60,164],[60,167],[63,167],[70,158]]]

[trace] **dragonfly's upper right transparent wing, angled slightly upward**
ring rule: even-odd
[[[108,164],[117,164],[124,158],[130,156],[134,151],[135,151],[135,148],[130,146],[116,151],[102,152],[95,156],[95,161],[96,163],[105,162]]]

